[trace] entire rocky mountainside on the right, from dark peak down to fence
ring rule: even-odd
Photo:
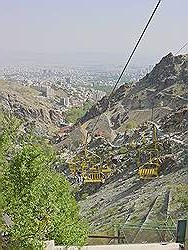
[[[187,96],[188,55],[170,53],[150,74],[133,86],[122,85],[110,101],[104,97],[82,117],[80,123],[90,131],[96,117],[105,115],[116,133],[111,143],[95,138],[88,145],[94,152],[100,145],[101,158],[111,155],[113,169],[104,184],[83,186],[77,194],[92,232],[111,232],[118,223],[165,223],[169,217],[176,222],[188,216]],[[137,152],[143,144],[152,145],[153,126],[160,176],[142,180]],[[100,129],[105,130],[101,123]]]

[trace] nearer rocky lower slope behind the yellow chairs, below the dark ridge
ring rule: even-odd
[[[78,192],[82,215],[92,232],[111,232],[117,224],[164,224],[169,217],[176,222],[188,216],[187,107],[159,119],[155,126],[160,162],[157,178],[140,179],[136,164],[138,148],[143,143],[152,145],[153,123],[120,135],[113,144],[97,143],[99,139],[90,143],[90,150],[104,145],[100,156],[105,159],[111,152],[113,162],[113,174],[104,184],[83,186]]]

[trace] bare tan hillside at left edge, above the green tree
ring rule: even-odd
[[[62,114],[54,109],[47,98],[40,96],[39,92],[19,84],[0,82],[0,104],[19,118],[29,123],[35,123],[37,130],[55,131]],[[52,131],[51,131],[52,132]]]

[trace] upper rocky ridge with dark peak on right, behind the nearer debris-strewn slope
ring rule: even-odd
[[[105,113],[109,117],[109,126],[121,131],[125,130],[126,124],[138,125],[151,120],[152,115],[156,120],[186,105],[187,96],[188,55],[173,56],[170,53],[137,83],[120,86],[110,100],[103,97],[79,123],[88,124]]]

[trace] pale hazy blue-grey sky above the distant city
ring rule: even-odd
[[[0,0],[0,52],[5,60],[14,54],[66,53],[73,63],[89,55],[98,63],[121,64],[157,1]],[[163,0],[134,62],[176,52],[188,40],[187,13],[188,0]]]

